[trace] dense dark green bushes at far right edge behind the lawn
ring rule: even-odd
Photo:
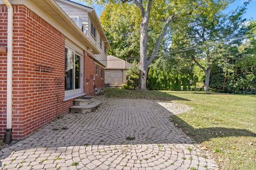
[[[251,21],[248,33],[256,30],[255,21]],[[211,88],[215,91],[256,94],[256,40],[251,38],[245,43],[228,48],[231,57],[223,57],[213,64]]]

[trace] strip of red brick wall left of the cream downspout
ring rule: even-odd
[[[0,46],[7,46],[7,8],[0,5]],[[6,129],[7,53],[0,53],[0,138]]]

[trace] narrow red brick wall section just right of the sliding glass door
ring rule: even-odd
[[[95,66],[91,55],[84,52],[84,94],[86,96],[94,95]]]

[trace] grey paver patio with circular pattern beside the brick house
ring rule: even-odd
[[[68,114],[0,154],[2,169],[215,169],[154,100],[106,99]],[[173,104],[172,104],[173,105]]]

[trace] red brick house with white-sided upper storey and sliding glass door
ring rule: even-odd
[[[0,138],[23,139],[103,89],[110,46],[93,8],[0,0],[0,23]]]

